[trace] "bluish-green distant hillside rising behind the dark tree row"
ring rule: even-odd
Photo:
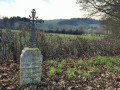
[[[55,30],[55,29],[77,29],[82,27],[85,30],[100,27],[100,21],[90,18],[72,18],[72,19],[55,19],[44,20],[44,24],[39,24],[38,28],[42,30]]]

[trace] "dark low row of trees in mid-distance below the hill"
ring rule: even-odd
[[[48,30],[48,31],[45,31],[46,33],[58,33],[58,34],[72,34],[72,35],[82,35],[84,34],[84,31],[83,30],[65,30],[65,29],[62,29],[62,30]]]

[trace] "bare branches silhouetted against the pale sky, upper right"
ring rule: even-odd
[[[120,0],[77,0],[77,3],[91,14],[108,14],[120,20]]]

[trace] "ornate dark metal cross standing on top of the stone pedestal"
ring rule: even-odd
[[[35,9],[33,9],[31,11],[32,15],[30,17],[31,19],[31,24],[32,24],[32,29],[31,29],[31,32],[30,32],[30,47],[31,48],[34,48],[35,47],[35,24],[36,24],[36,20],[38,17],[36,17],[36,11]],[[39,23],[43,23],[44,21],[42,19],[39,20]]]

